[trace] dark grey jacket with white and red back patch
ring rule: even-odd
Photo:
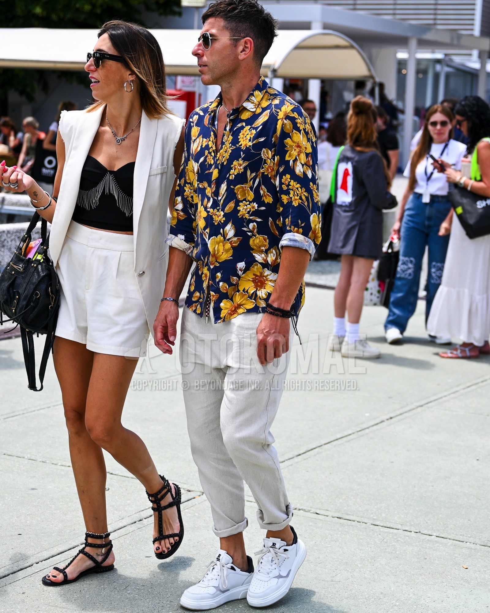
[[[337,189],[328,251],[378,259],[383,243],[383,209],[396,206],[377,151],[346,145],[337,166]]]

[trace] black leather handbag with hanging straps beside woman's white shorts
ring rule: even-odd
[[[43,388],[46,365],[55,340],[59,310],[59,281],[53,262],[48,256],[49,235],[45,219],[41,222],[42,243],[37,249],[36,257],[32,259],[24,255],[31,242],[32,230],[39,219],[39,213],[34,213],[12,259],[0,275],[0,325],[4,321],[13,321],[20,326],[28,387],[34,392],[40,392]],[[3,319],[3,314],[8,319]],[[46,335],[39,367],[39,389],[36,386],[34,334]]]

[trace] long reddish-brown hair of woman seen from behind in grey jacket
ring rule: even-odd
[[[347,143],[358,151],[377,151],[379,153],[385,169],[386,184],[390,189],[391,176],[379,150],[374,115],[371,100],[363,96],[356,96],[353,99],[350,103],[349,115],[347,115]]]

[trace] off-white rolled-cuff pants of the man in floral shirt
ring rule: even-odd
[[[281,400],[290,351],[262,367],[257,358],[261,313],[214,324],[184,307],[180,360],[190,449],[211,504],[213,531],[243,531],[244,484],[265,530],[282,530],[292,516],[270,428]]]

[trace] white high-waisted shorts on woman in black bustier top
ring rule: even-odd
[[[149,329],[134,273],[132,235],[72,221],[56,270],[61,285],[57,337],[111,356],[146,355]]]

